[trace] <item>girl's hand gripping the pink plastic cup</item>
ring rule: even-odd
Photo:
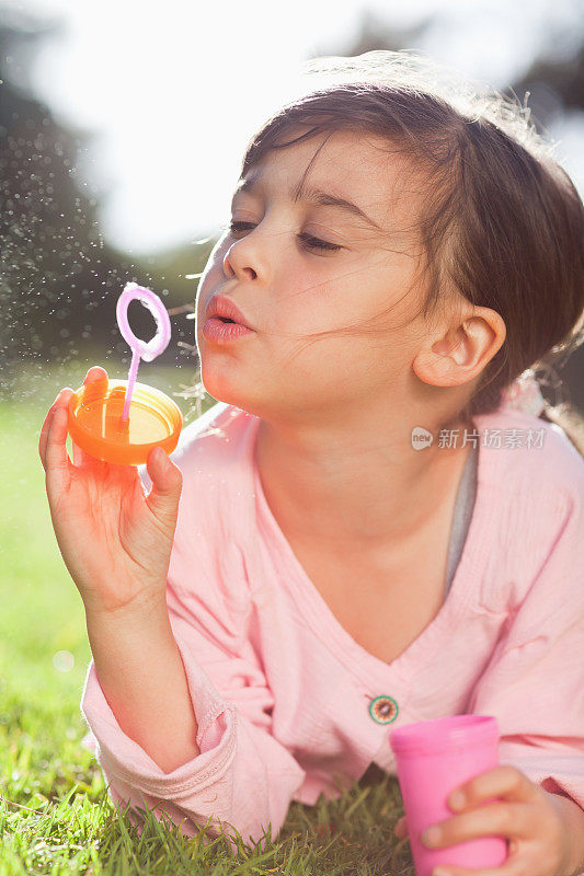
[[[462,792],[462,805],[453,806],[455,792]],[[500,797],[481,806],[481,802]],[[439,837],[422,842],[428,849],[442,849],[479,837],[499,835],[508,839],[508,856],[501,867],[467,869],[444,866],[444,876],[569,876],[572,840],[562,819],[554,795],[534,784],[524,773],[511,765],[495,766],[474,776],[451,792],[448,805],[463,812],[436,826]],[[430,830],[430,828],[428,828]],[[394,832],[406,835],[405,818],[400,818]],[[443,866],[433,876],[443,876]]]

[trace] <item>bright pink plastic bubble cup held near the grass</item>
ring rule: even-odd
[[[430,849],[421,834],[454,818],[447,799],[455,787],[499,765],[499,726],[490,715],[453,715],[391,730],[398,781],[408,821],[416,876],[432,876],[439,864],[496,867],[507,858],[504,837],[481,837]],[[499,799],[492,797],[481,805]]]

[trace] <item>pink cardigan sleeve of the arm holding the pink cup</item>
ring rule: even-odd
[[[501,763],[584,809],[584,465],[579,472],[467,711],[496,717]]]

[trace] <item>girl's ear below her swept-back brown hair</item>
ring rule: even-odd
[[[439,332],[428,335],[412,362],[420,380],[433,387],[458,387],[478,378],[506,336],[503,319],[490,308],[476,308],[472,316]]]

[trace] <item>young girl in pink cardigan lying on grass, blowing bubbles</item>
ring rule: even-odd
[[[405,53],[310,67],[333,81],[252,138],[202,275],[217,404],[140,471],[71,463],[69,388],[42,429],[90,738],[114,800],[256,840],[394,773],[393,727],[494,715],[501,765],[423,841],[571,876],[584,461],[533,393],[582,341],[584,208],[501,94]]]

